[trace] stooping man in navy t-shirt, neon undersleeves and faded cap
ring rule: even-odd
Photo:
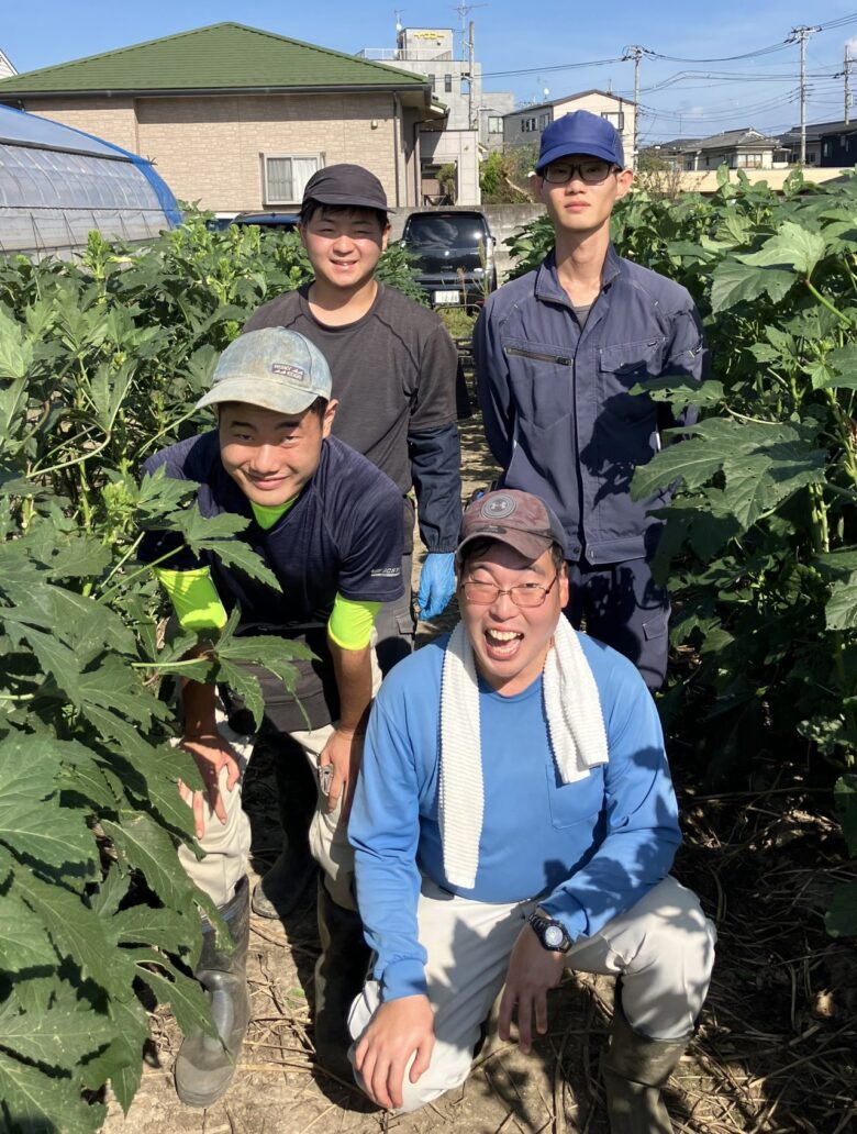
[[[246,517],[235,539],[262,558],[279,591],[212,552],[194,555],[175,531],[147,532],[142,557],[155,567],[185,628],[218,628],[227,611],[239,608],[239,634],[281,635],[316,654],[299,663],[303,712],[273,675],[261,667],[253,672],[265,700],[263,731],[280,743],[281,762],[305,753],[319,784],[311,846],[323,870],[324,953],[316,970],[315,1041],[322,1061],[336,1068],[347,1047],[345,1007],[366,963],[341,816],[379,682],[374,617],[382,602],[401,595],[404,584],[400,493],[365,457],[330,437],[337,406],[330,395],[328,364],[304,336],[282,328],[245,335],[223,352],[212,389],[198,403],[217,408],[218,430],[171,446],[144,466],[150,474],[163,467],[171,477],[196,482],[204,517]],[[183,848],[180,856],[220,908],[236,946],[224,954],[206,926],[196,975],[212,992],[222,1043],[192,1035],[176,1061],[179,1095],[204,1107],[226,1090],[249,1016],[249,827],[236,755],[218,728],[214,686],[184,682],[183,704],[180,743],[196,759],[207,797],[185,790],[205,855],[197,862]]]

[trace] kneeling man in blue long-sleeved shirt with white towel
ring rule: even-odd
[[[680,841],[646,686],[562,615],[562,525],[526,492],[469,506],[461,620],[388,676],[349,823],[375,963],[351,1008],[366,1094],[415,1110],[463,1083],[503,989],[528,1052],[566,966],[618,978],[613,1134],[670,1131],[660,1088],[708,987],[714,928]]]

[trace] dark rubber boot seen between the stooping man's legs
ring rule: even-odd
[[[300,902],[317,866],[309,854],[309,823],[317,789],[302,748],[277,753],[277,795],[282,828],[282,850],[253,891],[253,913],[287,917]]]

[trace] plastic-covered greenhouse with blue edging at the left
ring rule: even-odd
[[[176,198],[145,158],[0,107],[0,254],[70,259],[92,229],[138,242],[180,220]]]

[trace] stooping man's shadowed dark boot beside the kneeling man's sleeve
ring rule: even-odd
[[[321,879],[317,909],[322,955],[315,965],[315,1053],[322,1067],[350,1083],[348,1014],[363,989],[371,950],[360,915],[337,905]]]

